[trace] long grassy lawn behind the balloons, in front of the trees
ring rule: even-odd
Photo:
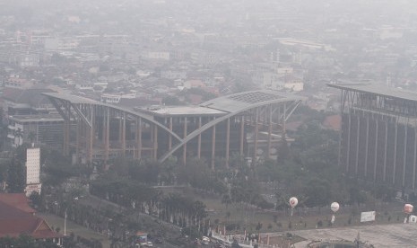
[[[262,226],[261,233],[289,232],[291,230],[305,230],[315,228],[342,227],[342,226],[367,226],[374,224],[395,224],[403,223],[404,204],[378,204],[375,206],[361,206],[361,208],[343,206],[335,214],[335,222],[330,224],[332,211],[330,207],[322,208],[320,212],[306,210],[305,208],[295,208],[291,217],[289,210],[284,211],[264,211],[244,204],[230,204],[228,208],[222,204],[220,197],[202,192],[197,192],[190,188],[168,189],[168,192],[178,192],[190,196],[195,200],[201,200],[209,210],[208,217],[212,223],[219,226],[233,226],[236,233],[247,232],[257,233],[256,226]],[[361,211],[377,211],[375,222],[361,223]]]

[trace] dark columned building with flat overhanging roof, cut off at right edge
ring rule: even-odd
[[[339,164],[345,172],[397,189],[416,189],[417,93],[376,84],[341,90]]]

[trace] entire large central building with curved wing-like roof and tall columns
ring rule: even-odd
[[[63,152],[85,162],[115,156],[274,157],[285,122],[303,98],[274,91],[222,96],[196,106],[126,108],[63,93],[43,93],[64,119]],[[255,159],[255,160],[254,160]]]

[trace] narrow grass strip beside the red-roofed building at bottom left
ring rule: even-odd
[[[51,214],[44,214],[44,213],[37,213],[37,216],[44,218],[49,226],[53,226],[54,228],[59,227],[60,233],[64,234],[64,218],[63,217],[57,217],[55,215]],[[95,233],[91,229],[88,229],[84,226],[80,226],[75,224],[72,221],[66,220],[66,235],[69,235],[71,233],[74,233],[75,236],[82,236],[84,238],[88,239],[96,239],[103,244],[103,248],[109,248],[110,247],[110,241],[109,238],[105,235],[100,235],[98,233]]]

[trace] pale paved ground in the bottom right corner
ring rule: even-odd
[[[352,226],[330,229],[292,231],[308,240],[348,240],[353,241],[360,231],[361,241],[375,247],[417,247],[416,224],[390,224],[380,226]],[[305,247],[305,246],[304,246]]]

